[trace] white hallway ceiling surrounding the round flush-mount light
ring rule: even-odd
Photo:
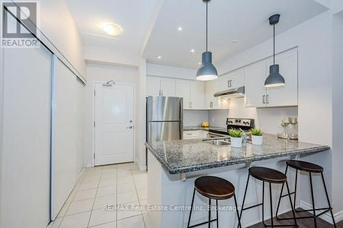
[[[84,45],[139,55],[156,0],[65,0]],[[120,36],[108,36],[103,23],[123,28]]]

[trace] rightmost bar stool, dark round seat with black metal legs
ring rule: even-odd
[[[325,181],[324,181],[324,175],[323,175],[323,171],[324,171],[324,168],[322,168],[322,166],[318,166],[317,164],[313,164],[313,163],[310,163],[310,162],[303,162],[303,161],[298,161],[298,160],[287,160],[286,162],[286,170],[285,170],[285,175],[287,175],[287,169],[288,169],[288,166],[292,167],[292,168],[295,168],[296,169],[296,183],[298,181],[298,170],[301,170],[301,171],[304,171],[304,172],[307,172],[309,173],[309,183],[310,183],[310,186],[311,186],[311,199],[312,199],[312,209],[310,210],[296,210],[296,183],[295,183],[295,189],[294,189],[294,192],[290,192],[288,191],[288,194],[285,194],[285,195],[282,195],[282,191],[283,191],[283,186],[281,188],[281,194],[280,194],[280,197],[279,197],[279,203],[278,203],[278,207],[277,207],[277,210],[276,210],[276,218],[279,219],[279,220],[287,220],[287,219],[291,219],[291,218],[279,218],[278,217],[278,211],[279,211],[279,205],[280,205],[280,202],[281,202],[281,198],[282,197],[285,197],[287,195],[290,195],[291,194],[294,194],[294,211],[296,212],[310,212],[312,211],[313,212],[313,216],[300,216],[300,217],[296,217],[296,219],[298,218],[314,218],[314,227],[317,227],[317,219],[318,216],[321,216],[322,214],[325,214],[326,212],[331,212],[331,217],[332,217],[332,220],[333,220],[333,226],[336,227],[336,223],[335,223],[335,219],[333,218],[333,212],[332,212],[332,207],[331,207],[331,204],[330,204],[330,200],[329,200],[329,195],[327,194],[327,186],[325,185]],[[327,203],[329,205],[329,207],[325,207],[325,208],[318,208],[316,209],[316,207],[314,206],[314,188],[312,186],[312,173],[320,173],[320,175],[322,176],[322,183],[324,185],[324,190],[325,190],[325,194],[327,195]],[[316,214],[316,211],[317,210],[324,210],[323,212],[320,212],[320,214]]]

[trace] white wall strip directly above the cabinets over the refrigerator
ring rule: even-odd
[[[180,79],[196,80],[196,71],[191,68],[147,64],[146,74],[150,76],[175,77]]]

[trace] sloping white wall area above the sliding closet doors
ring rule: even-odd
[[[84,45],[64,0],[40,1],[40,30],[86,78]]]

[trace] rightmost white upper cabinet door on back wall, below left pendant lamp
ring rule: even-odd
[[[191,109],[204,110],[205,86],[202,82],[191,81]]]

